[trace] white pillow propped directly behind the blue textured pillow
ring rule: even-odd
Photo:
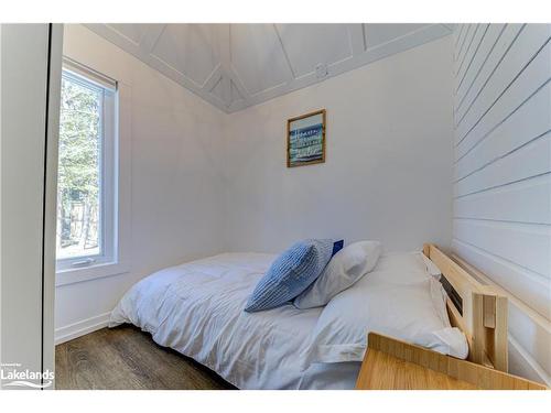
[[[378,241],[359,241],[343,248],[317,280],[294,300],[295,307],[305,309],[327,304],[375,268],[381,249]]]

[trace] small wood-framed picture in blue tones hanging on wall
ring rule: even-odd
[[[287,121],[287,166],[325,162],[325,109]]]

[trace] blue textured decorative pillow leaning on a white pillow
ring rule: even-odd
[[[333,254],[333,240],[294,243],[272,262],[252,292],[246,312],[276,308],[296,297],[322,273]]]

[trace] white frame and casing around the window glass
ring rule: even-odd
[[[130,220],[130,87],[68,57],[64,70],[112,93],[101,108],[101,251],[97,256],[56,262],[56,285],[122,274],[129,271]]]

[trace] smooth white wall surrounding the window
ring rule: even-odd
[[[56,289],[56,337],[104,326],[139,279],[224,249],[225,113],[80,25],[64,54],[131,87],[131,270]]]

